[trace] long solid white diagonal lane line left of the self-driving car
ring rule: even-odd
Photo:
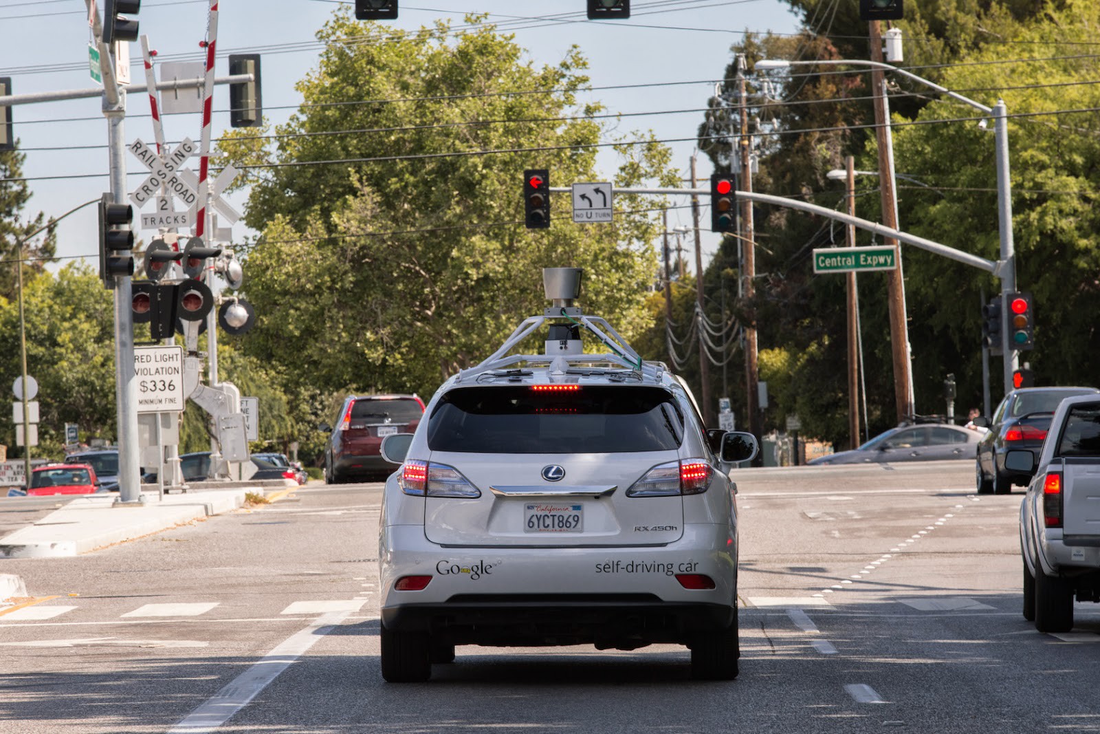
[[[205,734],[215,731],[350,614],[351,612],[332,612],[317,617],[309,626],[287,637],[258,662],[187,714],[168,730],[168,734]]]

